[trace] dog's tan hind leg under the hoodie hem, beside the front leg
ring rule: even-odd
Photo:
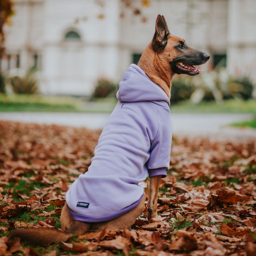
[[[114,220],[94,223],[91,229],[102,230],[114,230],[114,229],[124,229],[131,228],[131,225],[134,224],[135,220],[145,209],[145,200],[146,194],[144,193],[141,202],[130,212],[123,214],[122,216],[115,218]]]

